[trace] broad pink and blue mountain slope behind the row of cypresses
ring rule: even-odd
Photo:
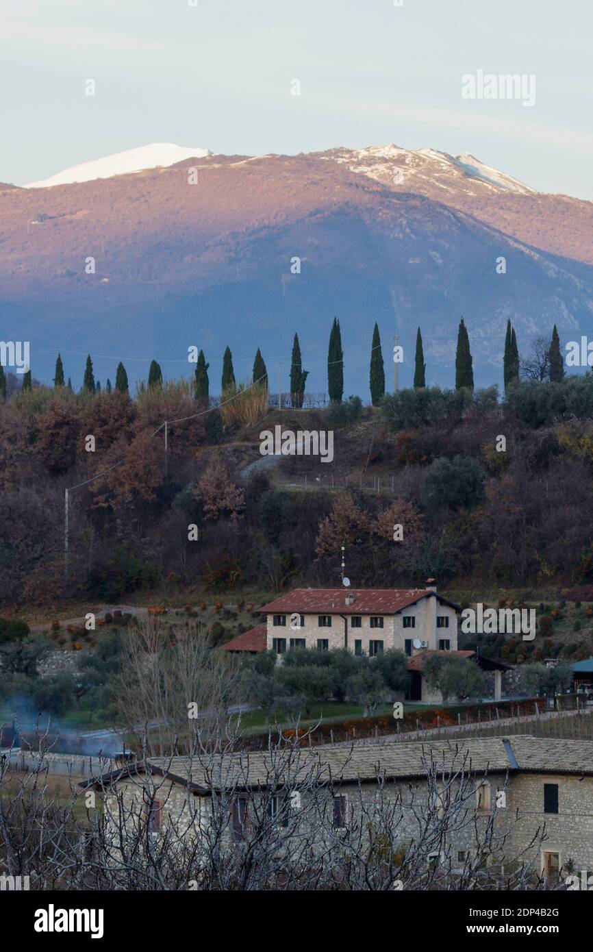
[[[485,209],[495,219],[494,199],[476,207],[459,188],[446,204],[422,194],[409,177],[408,188],[416,190],[317,155],[191,158],[195,185],[183,160],[87,183],[0,192],[3,335],[28,334],[35,375],[49,379],[53,358],[42,351],[52,347],[111,355],[105,368],[96,367],[103,379],[127,355],[179,362],[181,371],[188,346],[205,347],[216,362],[231,344],[237,375],[246,379],[251,349],[266,351],[269,368],[286,359],[298,330],[311,389],[323,391],[326,335],[337,314],[346,394],[365,395],[375,320],[386,361],[391,333],[405,344],[401,386],[411,383],[418,326],[427,382],[450,386],[462,315],[477,384],[499,378],[508,318],[522,350],[554,323],[561,335],[590,324],[591,264],[566,253],[562,229],[548,228],[546,249],[476,214]],[[471,188],[491,190],[482,183]],[[537,193],[498,188],[496,197],[519,220],[518,208],[533,203],[545,208],[546,223],[558,213]],[[574,220],[567,216],[568,233]],[[505,274],[496,270],[501,256]],[[291,269],[295,257],[300,273]],[[217,389],[214,378],[211,392]]]

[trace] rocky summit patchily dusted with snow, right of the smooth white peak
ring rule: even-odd
[[[468,152],[449,155],[437,149],[402,149],[391,143],[368,149],[329,149],[318,156],[344,164],[350,171],[360,172],[391,188],[424,191],[419,186],[430,183],[441,191],[443,201],[446,201],[447,191],[460,188],[470,195],[484,195],[501,189],[519,195],[537,193],[535,188],[484,165]]]

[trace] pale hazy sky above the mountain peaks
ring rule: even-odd
[[[189,3],[0,0],[0,181],[150,142],[249,155],[394,142],[593,199],[591,0]],[[464,99],[479,69],[534,74],[535,105]]]

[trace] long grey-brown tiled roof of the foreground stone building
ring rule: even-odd
[[[244,751],[242,754],[221,754],[205,757],[172,757],[150,759],[149,767],[157,775],[173,783],[182,783],[198,794],[208,795],[222,788],[265,788],[278,785],[278,769],[274,760],[282,755],[267,751]],[[352,748],[317,746],[302,748],[287,767],[287,785],[296,787],[315,777],[316,783],[329,781],[358,783],[377,777],[405,780],[423,778],[430,764],[447,774],[464,771],[474,774],[542,773],[593,776],[593,742],[565,741],[555,738],[519,735],[511,738],[483,737],[469,740],[432,741],[423,743],[393,742],[361,744]],[[94,783],[111,783],[138,772],[145,764],[129,764]],[[80,784],[89,785],[88,782]]]

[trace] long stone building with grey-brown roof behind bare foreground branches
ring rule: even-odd
[[[147,780],[157,782],[148,810],[143,803]],[[440,811],[450,810],[445,791],[455,798],[464,786],[461,813],[467,812],[468,820],[456,823],[450,812],[441,848],[426,855],[427,864],[461,869],[468,856],[480,856],[485,864],[507,870],[519,861],[531,863],[536,874],[551,879],[582,871],[588,877],[593,871],[590,741],[516,736],[360,744],[349,750],[326,745],[303,749],[296,766],[279,769],[268,752],[216,755],[208,763],[173,757],[127,764],[80,785],[107,790],[108,800],[109,789],[119,790],[129,815],[144,818],[155,835],[170,822],[199,837],[210,828],[214,811],[222,809],[228,846],[246,839],[249,811],[294,830],[287,813],[305,815],[311,798],[316,817],[320,803],[326,810],[320,834],[326,845],[327,837],[344,834],[362,817],[370,828],[380,791],[383,802],[400,806],[390,834],[394,851],[415,842],[419,811],[438,819]],[[484,855],[482,837],[490,828],[499,846]]]

